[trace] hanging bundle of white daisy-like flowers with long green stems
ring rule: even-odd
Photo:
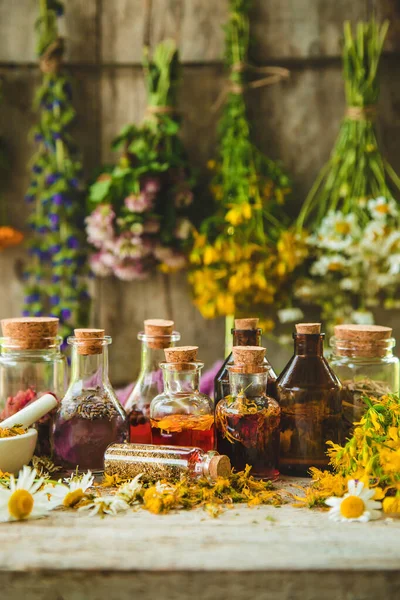
[[[400,178],[375,132],[379,63],[388,23],[344,25],[347,109],[330,159],[298,218],[308,238],[309,276],[299,298],[317,302],[328,323],[373,322],[372,309],[399,306]]]

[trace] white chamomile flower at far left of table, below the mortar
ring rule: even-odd
[[[0,522],[40,519],[55,507],[49,495],[39,491],[43,477],[35,481],[36,477],[34,469],[24,466],[17,481],[11,475],[8,489],[0,487]]]

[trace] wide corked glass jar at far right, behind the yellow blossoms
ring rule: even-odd
[[[390,327],[337,325],[330,340],[330,364],[342,382],[345,435],[365,412],[364,395],[379,398],[399,393],[399,359]]]

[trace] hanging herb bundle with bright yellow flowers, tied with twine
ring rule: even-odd
[[[279,163],[251,141],[245,92],[272,83],[287,72],[261,68],[269,77],[248,77],[249,0],[230,0],[226,26],[229,82],[219,126],[213,177],[214,214],[194,233],[190,255],[194,302],[206,318],[235,314],[265,314],[266,305],[284,303],[288,275],[303,259],[299,238],[287,228],[284,203],[289,177]],[[284,291],[285,289],[285,291]],[[273,321],[264,320],[271,329]]]

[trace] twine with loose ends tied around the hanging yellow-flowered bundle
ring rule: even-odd
[[[246,89],[255,89],[267,85],[273,85],[279,81],[282,81],[283,79],[288,79],[290,76],[290,71],[283,67],[255,67],[245,62],[235,63],[231,67],[231,74],[243,73],[244,71],[253,71],[259,75],[265,75],[265,77],[260,77],[254,81],[246,81],[243,83],[228,81],[227,85],[220,92],[218,98],[212,105],[212,112],[217,112],[217,110],[219,110],[228,94],[243,94]]]

